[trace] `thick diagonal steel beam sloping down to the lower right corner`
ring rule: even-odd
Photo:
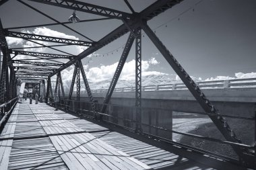
[[[150,27],[145,23],[142,25],[142,28],[144,32],[146,32],[150,40],[152,40],[156,48],[158,48],[164,58],[166,58],[172,69],[177,73],[177,75],[179,75],[183,83],[187,86],[189,91],[201,105],[201,108],[203,108],[205,113],[208,114],[212,122],[214,122],[218,130],[220,130],[224,138],[226,138],[226,140],[230,142],[242,143],[241,140],[237,138],[234,131],[227,124],[226,120],[222,117],[220,113],[218,113],[214,105],[210,102],[209,99],[207,99],[204,93],[199,89],[197,84],[193,81],[193,79],[191,79],[189,74],[183,69],[183,67],[179,64],[176,58],[174,58],[174,56],[170,54],[170,52],[167,50],[164,44],[162,44],[162,42],[158,39],[158,37],[156,36],[156,34],[154,34]],[[243,159],[243,149],[238,146],[232,146],[232,148],[234,148],[234,151],[239,156],[241,156],[241,159]]]

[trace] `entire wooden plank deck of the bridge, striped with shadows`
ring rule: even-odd
[[[28,101],[15,106],[1,133],[0,161],[0,169],[215,169]]]

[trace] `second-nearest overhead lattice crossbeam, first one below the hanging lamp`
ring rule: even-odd
[[[24,32],[11,32],[5,31],[5,36],[14,37],[14,38],[23,38],[25,40],[40,40],[46,42],[57,42],[62,44],[75,44],[78,46],[92,46],[93,42],[86,42],[82,40],[71,40],[67,38],[57,38],[52,36],[42,36],[36,34],[28,34]]]

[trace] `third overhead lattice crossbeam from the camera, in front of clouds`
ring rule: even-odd
[[[71,58],[71,57],[73,57],[70,55],[63,55],[63,54],[50,54],[50,53],[30,52],[30,51],[22,51],[22,50],[10,50],[10,54],[28,55],[28,56],[43,56],[43,57],[51,57],[51,58]]]

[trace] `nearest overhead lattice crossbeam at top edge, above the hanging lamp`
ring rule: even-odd
[[[107,7],[101,7],[99,5],[93,5],[90,3],[84,3],[81,1],[71,1],[71,0],[30,0],[30,1],[35,1],[38,3],[45,3],[48,5],[55,5],[57,7],[64,7],[67,9],[73,9],[76,11],[83,11],[86,13],[92,13],[96,15],[102,15],[105,17],[110,17],[110,18],[116,18],[116,19],[121,19],[124,17],[131,17],[130,13],[126,13],[123,11],[118,11],[115,9],[110,9]]]

